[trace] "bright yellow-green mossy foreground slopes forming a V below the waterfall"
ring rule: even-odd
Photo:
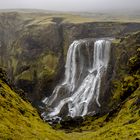
[[[86,121],[64,134],[44,123],[30,103],[24,101],[0,75],[0,138],[50,140],[115,140],[140,138],[140,89],[137,88],[116,111]],[[76,132],[78,131],[78,132]],[[80,132],[80,133],[79,133]]]

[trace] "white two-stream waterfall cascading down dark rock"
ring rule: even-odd
[[[71,117],[89,113],[91,102],[101,107],[99,102],[101,78],[107,70],[110,44],[109,39],[101,39],[95,41],[94,46],[90,46],[86,40],[74,41],[70,45],[64,81],[56,86],[49,98],[42,101],[48,109],[42,113],[44,120],[61,117],[64,107],[67,108],[67,116]],[[87,53],[91,53],[89,47],[93,48],[91,58],[83,55],[85,52],[82,52],[83,46]]]

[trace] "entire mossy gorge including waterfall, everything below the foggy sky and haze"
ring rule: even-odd
[[[140,23],[111,19],[0,12],[0,139],[140,139]]]

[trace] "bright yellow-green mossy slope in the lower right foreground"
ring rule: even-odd
[[[77,140],[139,140],[140,139],[140,88],[123,103],[121,109],[94,120],[88,118],[84,127],[70,133]],[[113,117],[112,117],[113,116]],[[83,132],[82,132],[83,131]]]

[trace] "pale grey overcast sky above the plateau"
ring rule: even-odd
[[[140,0],[0,0],[0,9],[15,8],[56,11],[139,10]]]

